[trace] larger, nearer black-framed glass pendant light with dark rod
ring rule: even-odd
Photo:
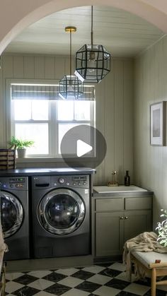
[[[98,83],[110,72],[110,53],[103,45],[93,45],[93,6],[91,6],[91,45],[76,52],[75,75],[83,82]]]

